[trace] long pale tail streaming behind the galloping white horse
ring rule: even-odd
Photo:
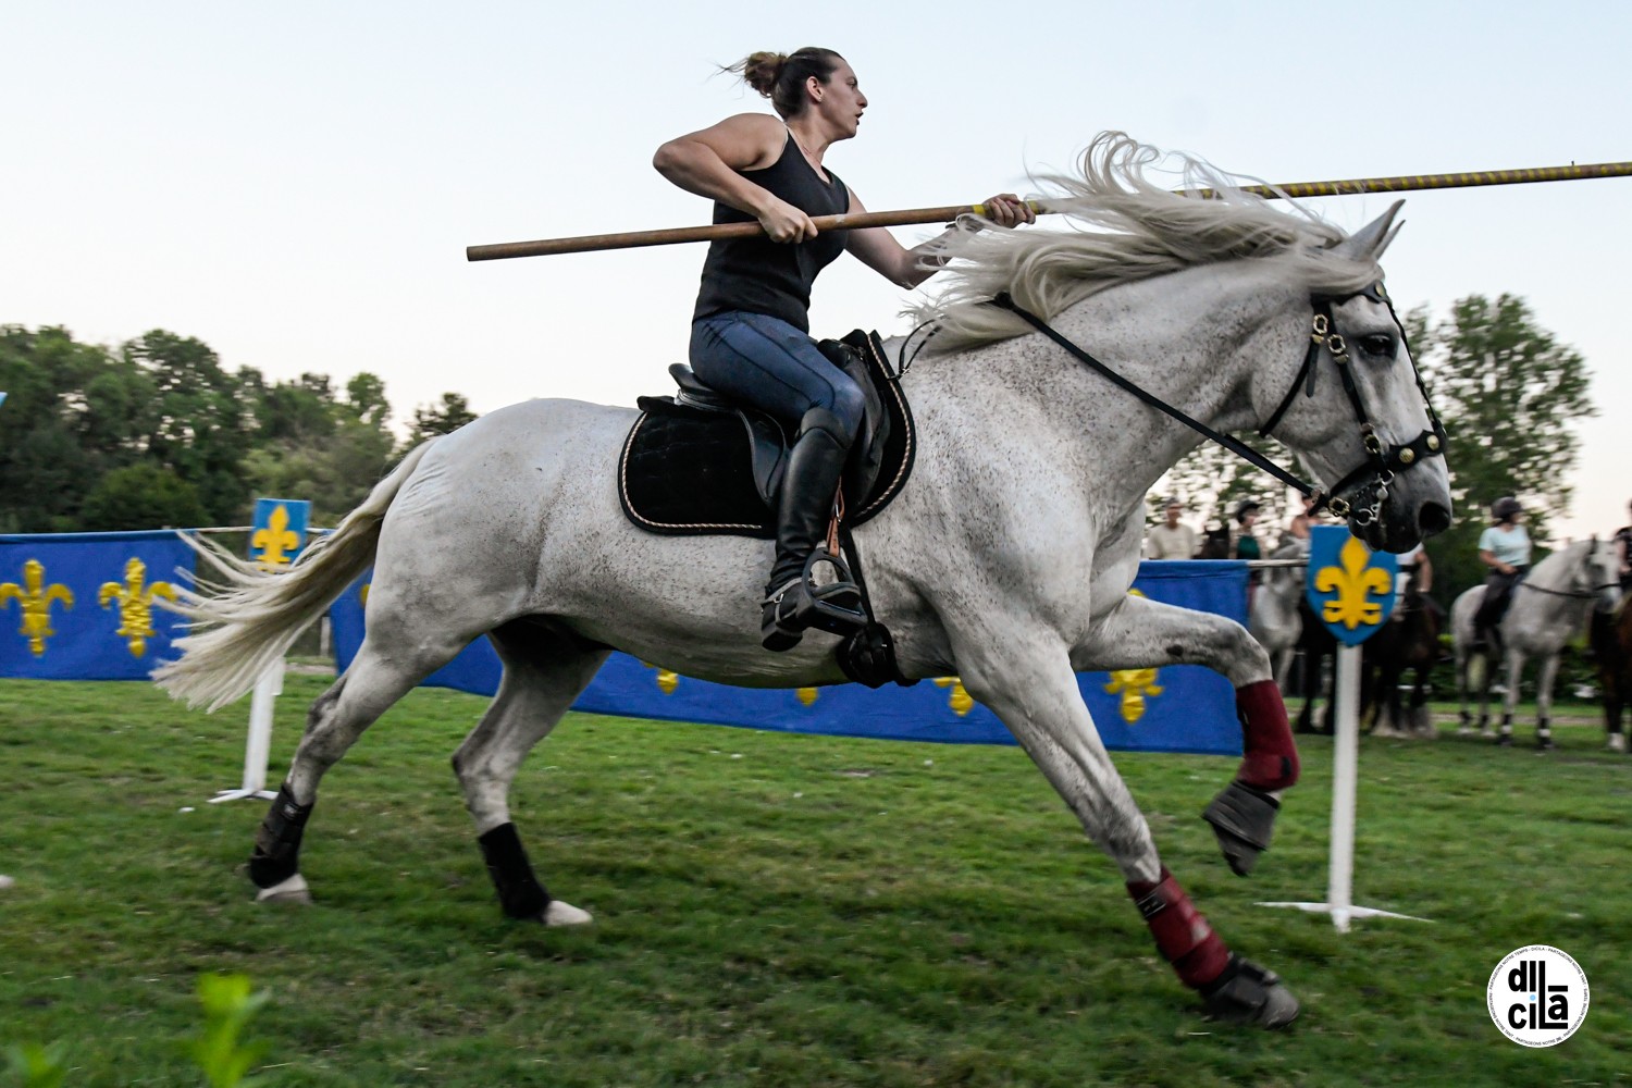
[[[410,450],[339,529],[313,540],[287,571],[264,571],[214,542],[186,537],[220,581],[197,577],[194,589],[183,589],[176,604],[166,605],[186,617],[188,635],[175,641],[181,657],[153,670],[158,687],[171,698],[211,711],[255,687],[300,633],[374,563],[385,512],[434,440]]]

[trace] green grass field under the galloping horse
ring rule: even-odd
[[[317,677],[279,700],[274,781]],[[1361,744],[1356,900],[1325,894],[1330,742],[1306,739],[1244,881],[1196,819],[1232,760],[1124,754],[1164,860],[1304,1002],[1286,1033],[1200,1018],[1120,876],[1017,749],[571,716],[514,812],[594,927],[499,917],[447,755],[483,700],[416,692],[323,783],[317,905],[251,902],[246,710],[139,683],[0,680],[0,1050],[70,1085],[196,1085],[201,972],[251,977],[279,1085],[1560,1085],[1632,1080],[1632,757]],[[1523,741],[1528,728],[1519,729]],[[191,809],[191,811],[186,811]],[[1573,954],[1586,1024],[1550,1050],[1485,1013],[1497,961]],[[0,1083],[3,1077],[0,1077]]]

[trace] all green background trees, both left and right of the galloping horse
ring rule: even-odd
[[[1449,315],[1405,315],[1405,333],[1449,432],[1452,529],[1430,542],[1438,587],[1483,577],[1475,542],[1490,504],[1519,496],[1531,535],[1568,507],[1575,419],[1596,414],[1586,360],[1536,323],[1523,299],[1469,295]],[[459,393],[419,406],[398,439],[385,383],[362,372],[343,388],[325,374],[268,382],[228,372],[197,339],[155,329],[116,349],[62,328],[0,326],[0,532],[238,525],[255,496],[310,499],[335,524],[413,445],[475,419]],[[1291,453],[1239,436],[1283,465]],[[1265,520],[1288,496],[1270,476],[1203,444],[1151,496],[1177,496],[1224,522],[1242,499]]]

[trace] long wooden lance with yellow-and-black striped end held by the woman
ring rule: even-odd
[[[1314,197],[1351,196],[1359,192],[1415,192],[1421,189],[1466,189],[1493,184],[1526,184],[1532,181],[1581,181],[1586,178],[1632,176],[1632,161],[1586,163],[1577,166],[1537,166],[1534,170],[1479,170],[1459,175],[1402,175],[1399,178],[1350,178],[1346,181],[1289,181],[1278,186],[1242,186],[1262,197]],[[1180,189],[1180,192],[1186,192]],[[1213,189],[1196,189],[1211,196]],[[1038,215],[1053,214],[1048,201],[1030,201]],[[857,230],[862,227],[911,227],[916,223],[943,223],[965,212],[981,212],[979,204],[953,204],[948,207],[917,207],[899,212],[865,212],[860,215],[818,215],[811,222],[816,230]],[[713,241],[715,238],[747,238],[762,233],[759,223],[720,223],[715,227],[676,227],[671,230],[636,230],[619,235],[584,235],[579,238],[542,238],[539,241],[501,241],[486,246],[467,246],[468,261],[499,261],[517,256],[548,256],[552,253],[588,253],[594,250],[632,250],[636,246],[666,246],[679,241]]]

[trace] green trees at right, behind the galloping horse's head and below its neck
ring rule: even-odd
[[[1572,424],[1598,411],[1588,395],[1586,360],[1544,329],[1516,295],[1469,295],[1444,316],[1423,305],[1402,323],[1449,437],[1454,522],[1428,542],[1435,592],[1449,600],[1485,577],[1479,533],[1490,525],[1490,504],[1498,498],[1518,496],[1529,514],[1531,538],[1549,537],[1547,522],[1570,506],[1565,478],[1580,445]],[[1294,465],[1293,453],[1275,440],[1237,437],[1279,465]],[[1152,524],[1162,520],[1169,494],[1190,517],[1217,524],[1244,499],[1263,506],[1265,522],[1275,522],[1278,512],[1289,517],[1293,502],[1278,481],[1213,444],[1191,452],[1157,486],[1149,499]],[[1541,555],[1537,550],[1536,558]]]

